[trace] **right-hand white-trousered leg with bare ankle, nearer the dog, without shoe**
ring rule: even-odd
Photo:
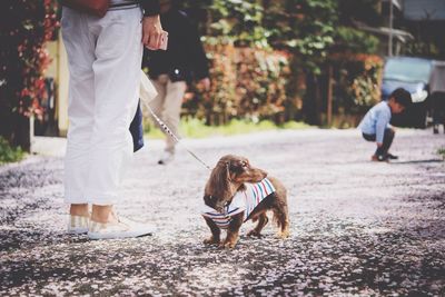
[[[141,11],[109,11],[102,19],[90,17],[97,34],[95,73],[95,122],[89,150],[87,197],[93,205],[91,220],[113,220],[112,205],[125,169],[132,157],[129,126],[136,112],[142,57]]]

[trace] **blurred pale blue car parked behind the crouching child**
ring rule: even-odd
[[[433,60],[412,57],[390,57],[385,60],[382,99],[387,100],[397,88],[412,93],[413,105],[403,113],[394,115],[392,123],[398,127],[425,128],[428,119],[428,82]]]

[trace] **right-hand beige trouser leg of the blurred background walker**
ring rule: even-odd
[[[180,109],[182,106],[184,95],[187,90],[187,83],[185,81],[168,81],[167,82],[167,95],[165,99],[162,119],[170,130],[178,136],[179,132],[179,120]],[[166,139],[166,151],[175,154],[176,141],[167,136]]]

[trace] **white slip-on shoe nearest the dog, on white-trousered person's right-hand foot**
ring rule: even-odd
[[[152,235],[155,228],[128,219],[119,218],[112,222],[98,222],[90,220],[88,237],[90,239],[132,238]]]

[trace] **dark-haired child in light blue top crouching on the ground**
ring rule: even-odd
[[[372,156],[373,161],[387,161],[398,158],[389,154],[395,136],[389,121],[392,115],[400,113],[411,103],[411,93],[403,88],[398,88],[392,92],[387,101],[382,101],[374,106],[363,118],[358,126],[363,138],[367,141],[375,141],[377,145],[377,149]]]

